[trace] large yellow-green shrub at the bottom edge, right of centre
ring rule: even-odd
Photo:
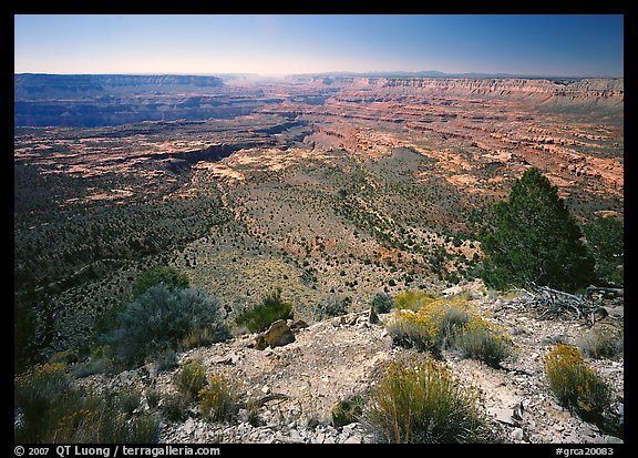
[[[464,388],[431,359],[394,362],[372,391],[362,424],[389,444],[490,442],[478,393]]]

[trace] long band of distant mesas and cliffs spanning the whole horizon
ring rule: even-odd
[[[233,119],[274,105],[298,115],[315,112],[315,106],[322,106],[327,100],[341,104],[393,101],[400,106],[407,100],[429,103],[457,98],[474,103],[497,100],[527,109],[611,114],[621,113],[624,108],[621,78],[477,75],[340,72],[289,75],[259,85],[250,75],[21,73],[14,74],[14,125],[101,126]],[[281,96],[279,89],[288,95]]]

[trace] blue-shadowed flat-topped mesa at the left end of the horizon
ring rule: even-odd
[[[101,126],[247,114],[220,106],[220,78],[179,74],[14,74],[14,125]]]

